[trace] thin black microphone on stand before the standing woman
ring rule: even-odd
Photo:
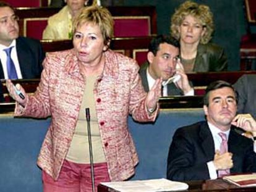
[[[92,178],[92,191],[95,192],[92,135],[91,135],[91,127],[90,127],[90,109],[89,108],[85,108],[85,116],[86,116],[86,120],[87,120],[88,143],[89,143],[90,165],[91,165],[91,178]]]

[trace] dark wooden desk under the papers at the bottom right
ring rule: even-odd
[[[231,183],[225,182],[224,180],[217,179],[217,180],[206,180],[206,181],[190,181],[186,182],[189,185],[189,190],[187,192],[195,192],[195,191],[215,191],[215,192],[222,192],[222,191],[232,191],[232,192],[252,192],[256,191],[256,187],[250,188],[239,188],[236,185]],[[103,185],[98,185],[98,192],[118,192],[111,188],[108,188]]]

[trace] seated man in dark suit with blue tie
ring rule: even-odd
[[[0,2],[0,79],[40,78],[45,52],[38,40],[19,37],[19,18]]]

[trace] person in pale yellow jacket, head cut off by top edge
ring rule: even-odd
[[[44,40],[70,40],[72,38],[72,21],[80,14],[84,6],[96,4],[96,0],[64,0],[67,3],[57,14],[49,17],[48,25],[43,31]]]

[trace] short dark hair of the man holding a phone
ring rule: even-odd
[[[148,51],[153,52],[154,56],[156,56],[156,53],[159,50],[159,46],[162,43],[171,44],[172,46],[179,48],[179,41],[177,41],[172,36],[158,35],[158,36],[156,36],[156,38],[153,38],[153,40],[150,41],[150,44],[148,46]]]

